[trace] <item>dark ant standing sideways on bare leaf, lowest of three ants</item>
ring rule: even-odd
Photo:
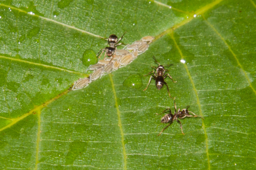
[[[176,120],[177,122],[179,122],[181,132],[182,132],[183,135],[185,135],[185,134],[183,133],[183,130],[182,130],[181,122],[178,120],[178,118],[180,118],[180,119],[185,118],[185,117],[194,117],[194,118],[195,118],[195,117],[200,117],[200,118],[203,118],[202,116],[196,115],[196,114],[194,114],[193,112],[188,111],[189,106],[187,106],[186,109],[182,109],[182,111],[181,111],[180,109],[178,109],[178,112],[177,112],[177,107],[176,107],[176,103],[175,103],[175,98],[174,98],[174,107],[175,107],[174,115],[171,113],[171,109],[168,108],[168,109],[169,109],[169,113],[166,114],[164,117],[161,118],[161,123],[169,123],[169,124],[158,134],[158,136],[161,135],[161,133],[162,133],[165,129],[167,129],[167,128],[172,124],[172,122],[173,122],[174,120]],[[165,110],[164,110],[162,113],[160,113],[160,114],[157,114],[157,113],[156,113],[156,114],[157,114],[157,115],[162,115],[162,114],[163,114],[164,112],[166,112],[166,110],[168,110],[168,109],[165,109]],[[189,113],[192,113],[193,115],[190,115]],[[204,119],[204,118],[203,118],[203,119]]]

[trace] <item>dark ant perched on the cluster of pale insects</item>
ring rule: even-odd
[[[126,32],[124,32],[124,34],[125,33]],[[100,56],[101,56],[104,51],[106,51],[105,55],[104,55],[104,59],[106,58],[106,55],[108,55],[109,57],[114,55],[116,47],[124,44],[124,43],[119,43],[122,40],[122,38],[124,37],[124,34],[119,39],[118,39],[118,36],[116,36],[115,34],[110,35],[109,38],[104,38],[105,40],[108,41],[109,46],[106,46],[104,49],[100,49],[97,56],[100,54],[100,52],[101,52],[101,54],[100,54]],[[99,58],[100,58],[100,56],[99,56]]]

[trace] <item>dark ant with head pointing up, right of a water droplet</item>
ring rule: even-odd
[[[171,80],[174,83],[176,83],[177,81],[174,81],[172,79],[171,75],[169,75],[168,73],[165,75],[165,71],[169,71],[169,70],[165,69],[165,67],[163,65],[161,65],[159,62],[157,62],[155,56],[153,56],[153,58],[155,59],[155,62],[158,64],[158,67],[156,68],[155,66],[152,66],[153,69],[156,69],[156,72],[153,70],[152,72],[149,72],[147,74],[147,75],[150,75],[151,73],[154,73],[154,75],[150,76],[150,79],[149,79],[149,82],[147,84],[147,87],[150,84],[151,78],[153,78],[153,79],[156,80],[156,87],[157,87],[157,89],[159,89],[159,90],[162,89],[163,85],[165,84],[167,86],[168,94],[171,97],[171,94],[169,92],[169,87],[168,87],[167,83],[165,82],[165,78],[167,76],[169,76],[169,78],[171,78]],[[173,66],[173,64],[166,65],[166,67],[169,67],[169,66]],[[147,75],[144,75],[144,76],[147,76]],[[146,89],[147,89],[147,87],[146,87]],[[145,91],[146,89],[144,89],[143,91]]]

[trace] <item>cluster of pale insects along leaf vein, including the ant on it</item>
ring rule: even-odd
[[[80,78],[78,81],[75,82],[72,90],[82,89],[92,81],[101,78],[101,76],[106,75],[118,68],[126,66],[127,64],[131,63],[138,55],[144,53],[148,47],[149,43],[152,42],[154,37],[147,36],[141,38],[141,40],[135,41],[131,45],[127,45],[124,49],[117,49],[117,46],[120,46],[123,43],[119,43],[124,35],[118,39],[118,37],[114,34],[110,35],[108,40],[109,47],[105,47],[104,49],[100,49],[98,52],[98,56],[103,54],[104,51],[104,59],[98,61],[98,63],[89,66],[88,70],[94,70],[93,73],[88,78]],[[108,57],[106,57],[106,55]]]

